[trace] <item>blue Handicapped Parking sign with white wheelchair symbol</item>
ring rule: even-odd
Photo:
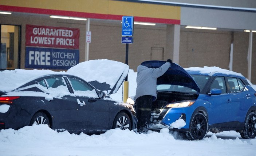
[[[123,16],[122,36],[133,36],[133,16]]]

